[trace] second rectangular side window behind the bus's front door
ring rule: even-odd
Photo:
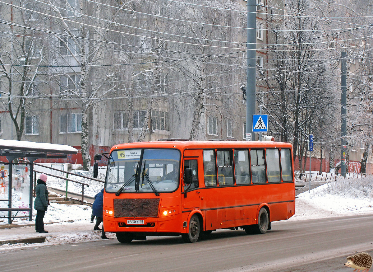
[[[233,185],[232,150],[217,150],[217,180],[219,185]]]

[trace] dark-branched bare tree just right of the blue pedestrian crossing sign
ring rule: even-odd
[[[271,35],[278,45],[269,53],[270,73],[266,80],[269,92],[261,100],[271,112],[270,130],[282,141],[292,140],[293,159],[299,165],[308,147],[308,135],[316,141],[330,139],[335,121],[335,79],[332,67],[317,38],[319,25],[310,14],[306,0],[286,2],[288,16],[285,31],[273,24]]]

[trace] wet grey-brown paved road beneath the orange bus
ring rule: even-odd
[[[373,216],[274,222],[264,235],[221,230],[193,244],[181,237],[116,239],[15,250],[0,254],[0,271],[328,271],[341,268],[355,251],[373,250]],[[317,262],[316,265],[310,263]],[[345,268],[346,272],[351,269]]]

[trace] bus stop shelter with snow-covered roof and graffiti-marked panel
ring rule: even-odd
[[[32,221],[34,161],[67,158],[68,154],[77,153],[68,145],[0,139],[0,156],[8,161],[0,161],[0,218],[8,218],[9,224],[21,217]],[[29,163],[16,162],[19,158]]]

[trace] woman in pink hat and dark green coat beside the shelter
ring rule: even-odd
[[[47,189],[47,175],[42,173],[40,174],[35,188],[36,197],[34,202],[34,207],[36,210],[36,220],[35,220],[35,229],[36,232],[47,233],[44,230],[44,215],[48,210],[48,189]]]

